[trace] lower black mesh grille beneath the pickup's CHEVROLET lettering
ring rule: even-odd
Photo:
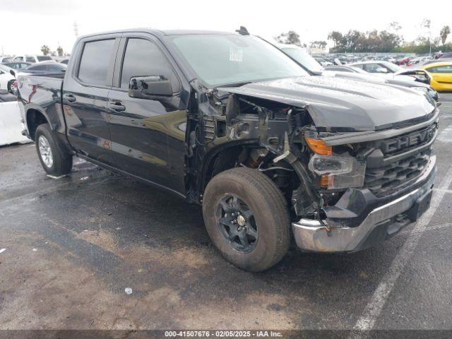
[[[364,187],[381,198],[409,186],[424,172],[430,153],[431,150],[424,150],[383,167],[367,168]]]

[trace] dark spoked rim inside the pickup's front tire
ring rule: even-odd
[[[233,249],[249,253],[256,248],[258,228],[253,211],[234,194],[223,196],[217,203],[215,221]]]

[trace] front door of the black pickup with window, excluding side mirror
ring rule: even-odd
[[[129,97],[130,79],[163,76],[171,97]],[[184,192],[186,104],[177,67],[165,47],[147,33],[124,33],[109,92],[112,152],[119,169],[172,191]]]

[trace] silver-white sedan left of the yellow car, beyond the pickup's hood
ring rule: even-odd
[[[402,67],[388,61],[362,61],[353,62],[348,66],[354,66],[358,69],[367,71],[375,76],[382,76],[387,79],[397,79],[406,81],[419,81],[420,83],[430,84],[431,77],[423,69],[403,69]]]

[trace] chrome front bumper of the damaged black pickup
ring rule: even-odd
[[[352,252],[366,248],[363,244],[381,242],[378,239],[368,239],[374,234],[377,227],[386,227],[384,232],[389,230],[391,233],[391,220],[400,213],[407,212],[412,208],[418,198],[424,196],[432,189],[434,177],[436,174],[436,157],[430,157],[430,163],[422,176],[417,179],[421,184],[417,189],[410,193],[400,196],[383,206],[371,210],[369,215],[357,227],[334,227],[327,232],[326,227],[321,225],[319,220],[300,219],[298,222],[292,222],[292,231],[295,242],[299,249],[314,252]],[[325,220],[328,225],[328,219]],[[407,225],[408,222],[405,223]],[[403,225],[403,226],[405,226]],[[402,227],[400,227],[401,229]],[[398,232],[399,230],[396,230]],[[393,232],[394,234],[396,232]],[[381,234],[380,234],[381,235]],[[391,234],[392,235],[392,234]],[[385,237],[386,239],[386,237]],[[375,240],[375,241],[374,241]]]

